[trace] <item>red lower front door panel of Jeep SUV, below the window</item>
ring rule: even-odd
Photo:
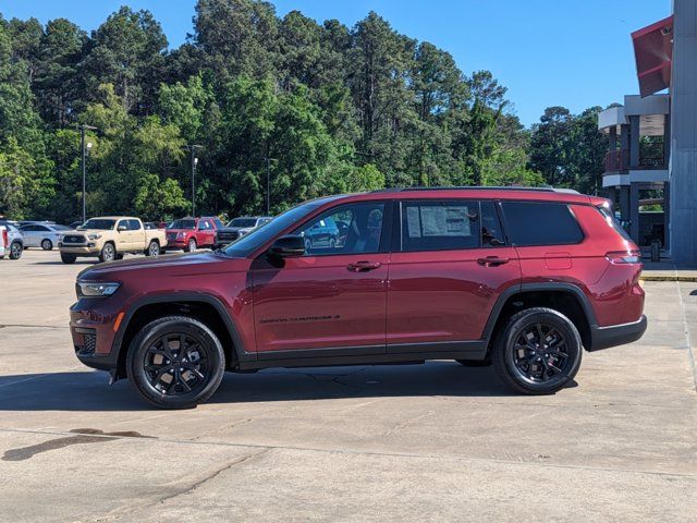
[[[350,264],[369,262],[371,270]],[[253,271],[258,351],[380,345],[388,254],[289,258]]]

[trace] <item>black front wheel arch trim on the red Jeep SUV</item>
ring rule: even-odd
[[[220,339],[225,352],[227,367],[254,358],[244,350],[234,321],[216,296],[201,293],[172,293],[145,296],[129,307],[112,342],[117,356],[117,373],[125,376],[126,355],[138,330],[158,318],[171,315],[191,316],[207,325]]]

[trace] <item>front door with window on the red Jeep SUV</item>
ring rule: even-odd
[[[384,353],[387,279],[383,202],[340,205],[301,224],[306,254],[253,269],[257,350],[343,349]],[[318,223],[345,224],[327,245],[308,242]],[[382,251],[382,252],[381,252]],[[358,349],[360,348],[360,349]]]

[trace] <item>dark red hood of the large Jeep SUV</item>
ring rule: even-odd
[[[228,264],[225,270],[235,270],[236,265],[240,265],[240,270],[243,270],[244,267],[248,266],[248,260],[246,258],[233,258],[213,253],[168,254],[158,257],[121,259],[107,264],[97,264],[80,272],[77,278],[101,280],[117,273],[148,269],[158,272],[162,269],[174,271],[181,269],[187,273],[195,273],[198,267],[204,265],[210,266],[211,264]]]

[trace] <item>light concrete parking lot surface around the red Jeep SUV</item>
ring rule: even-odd
[[[697,520],[697,283],[647,282],[645,337],[553,397],[442,361],[229,374],[166,412],[73,355],[93,263],[0,260],[2,521]]]

